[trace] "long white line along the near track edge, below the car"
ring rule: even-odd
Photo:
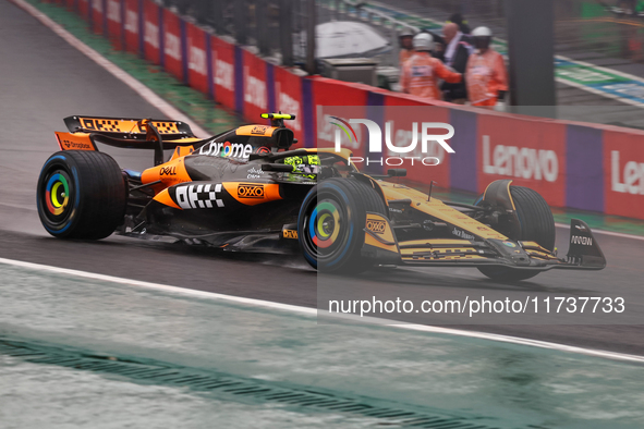
[[[26,269],[36,270],[36,271],[53,272],[57,274],[74,275],[74,277],[78,277],[78,278],[83,278],[83,279],[99,280],[99,281],[106,281],[106,282],[111,282],[111,283],[125,284],[125,285],[130,285],[130,286],[151,289],[151,290],[162,291],[162,292],[178,294],[178,295],[190,295],[190,296],[207,298],[207,299],[227,301],[227,302],[236,303],[236,304],[244,304],[244,305],[256,306],[256,307],[266,307],[266,308],[272,308],[272,309],[278,309],[278,310],[282,310],[282,311],[291,311],[291,312],[308,315],[308,316],[317,316],[316,308],[300,307],[300,306],[295,306],[295,305],[274,303],[270,301],[244,298],[244,297],[240,297],[240,296],[224,295],[224,294],[218,294],[218,293],[214,293],[214,292],[195,291],[192,289],[169,286],[166,284],[158,284],[158,283],[150,283],[150,282],[142,282],[138,280],[130,280],[130,279],[123,279],[123,278],[105,275],[105,274],[97,274],[97,273],[86,272],[86,271],[70,270],[66,268],[51,267],[51,266],[46,266],[46,265],[41,265],[41,263],[24,262],[21,260],[13,260],[13,259],[5,259],[5,258],[0,258],[0,263],[13,266],[13,267],[26,268]],[[336,317],[336,316],[333,315],[333,317]],[[380,326],[385,324],[388,328],[392,328],[392,329],[405,329],[405,330],[411,330],[411,331],[467,336],[467,338],[474,338],[474,339],[498,341],[498,342],[503,342],[503,343],[527,345],[527,346],[539,347],[539,348],[548,348],[548,350],[555,350],[555,351],[560,351],[560,352],[576,353],[576,354],[582,354],[582,355],[586,355],[586,356],[595,356],[595,357],[603,357],[603,358],[609,358],[609,359],[617,359],[617,360],[625,360],[625,361],[644,364],[644,356],[628,355],[628,354],[623,354],[623,353],[615,353],[615,352],[606,352],[606,351],[599,351],[599,350],[593,350],[593,348],[576,347],[576,346],[572,346],[572,345],[550,343],[547,341],[530,340],[530,339],[522,339],[522,338],[518,338],[518,336],[500,335],[500,334],[486,333],[486,332],[463,331],[463,330],[459,330],[459,329],[439,328],[439,327],[430,327],[430,326],[424,326],[424,324],[392,324],[391,320],[379,319],[379,318],[374,318],[374,317],[362,317],[361,318],[357,316],[350,316],[350,315],[341,315],[338,317],[341,317],[343,319],[348,319],[349,321],[352,321],[352,322],[370,322],[370,323],[377,323]]]

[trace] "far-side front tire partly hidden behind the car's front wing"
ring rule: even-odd
[[[508,238],[536,242],[552,252],[555,249],[555,218],[546,200],[528,187],[510,186],[510,195],[517,207],[520,232]],[[481,198],[477,200],[481,203]],[[478,271],[493,280],[512,282],[532,279],[540,271],[521,270],[509,267],[479,267]]]

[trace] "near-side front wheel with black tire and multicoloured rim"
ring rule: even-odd
[[[361,255],[366,213],[387,217],[380,195],[355,179],[329,179],[314,186],[300,209],[297,236],[306,261],[318,271],[359,273],[373,263]]]

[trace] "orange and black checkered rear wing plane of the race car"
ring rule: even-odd
[[[104,117],[68,117],[64,121],[68,130],[72,133],[100,133],[114,138],[147,139],[147,128],[144,122],[151,123],[165,140],[195,136],[190,125],[180,121]]]

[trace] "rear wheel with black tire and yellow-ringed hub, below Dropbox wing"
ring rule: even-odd
[[[107,154],[59,151],[40,171],[37,203],[40,222],[54,237],[100,240],[123,221],[127,185]]]

